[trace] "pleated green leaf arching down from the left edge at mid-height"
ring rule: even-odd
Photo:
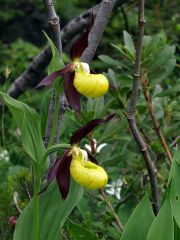
[[[39,115],[27,104],[17,101],[5,93],[0,92],[0,99],[7,105],[21,130],[25,151],[32,160],[40,162],[45,147],[41,136]]]

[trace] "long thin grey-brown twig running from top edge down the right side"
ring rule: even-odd
[[[139,0],[139,29],[138,29],[138,36],[137,36],[137,49],[136,49],[136,60],[134,66],[134,78],[133,78],[133,88],[131,99],[129,103],[129,110],[128,110],[128,123],[132,132],[132,135],[137,142],[139,149],[143,155],[152,190],[152,198],[153,198],[153,209],[154,213],[157,214],[159,211],[159,196],[158,196],[158,186],[157,186],[157,179],[156,179],[156,170],[155,166],[150,158],[148,149],[142,136],[139,133],[139,130],[136,125],[135,120],[135,111],[136,111],[136,102],[138,97],[138,90],[139,90],[139,82],[140,82],[140,73],[141,73],[141,53],[142,53],[142,39],[144,35],[144,3],[145,0]]]

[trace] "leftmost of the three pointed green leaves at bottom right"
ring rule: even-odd
[[[121,240],[145,240],[153,220],[151,203],[145,195],[130,216]]]

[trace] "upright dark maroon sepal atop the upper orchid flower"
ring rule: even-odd
[[[91,14],[90,20],[87,23],[86,31],[74,42],[70,49],[70,57],[72,60],[80,58],[84,50],[88,46],[88,35],[94,25],[94,17]]]

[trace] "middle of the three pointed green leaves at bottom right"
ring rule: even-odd
[[[169,198],[165,200],[151,225],[147,240],[174,240],[174,222]]]

